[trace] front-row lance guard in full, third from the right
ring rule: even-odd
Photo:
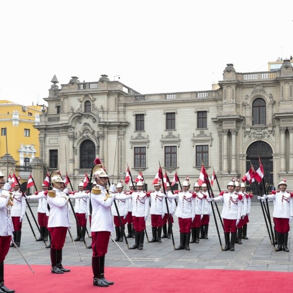
[[[180,231],[180,245],[176,250],[189,248],[191,223],[195,216],[195,207],[192,193],[189,191],[190,183],[186,178],[182,183],[183,191],[176,192],[169,195],[169,199],[178,199],[178,205],[175,216],[178,217],[179,231]]]

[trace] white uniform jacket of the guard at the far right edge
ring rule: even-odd
[[[291,195],[292,194],[292,195]],[[293,193],[287,191],[277,191],[275,194],[268,195],[268,201],[274,204],[274,218],[290,218],[293,217]]]

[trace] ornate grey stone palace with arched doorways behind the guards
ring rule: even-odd
[[[221,188],[242,177],[259,156],[265,181],[293,184],[293,68],[238,73],[227,64],[212,90],[140,94],[107,75],[99,81],[54,76],[47,111],[40,116],[40,158],[77,183],[99,156],[111,182],[142,171],[149,185],[159,164],[170,180],[177,172],[198,179],[202,163]],[[214,185],[215,189],[218,189]]]

